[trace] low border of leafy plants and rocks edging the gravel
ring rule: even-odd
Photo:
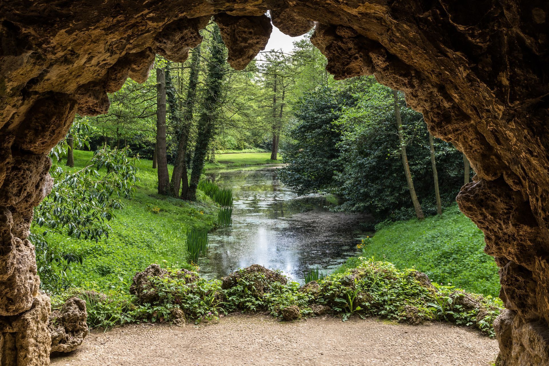
[[[137,273],[132,295],[109,297],[69,291],[89,303],[90,326],[131,322],[212,320],[222,314],[268,311],[285,320],[333,314],[373,316],[395,322],[450,322],[494,336],[493,322],[502,302],[492,296],[469,294],[455,286],[431,283],[415,269],[397,269],[389,262],[360,257],[355,268],[300,286],[280,272],[254,264],[221,280],[201,278],[187,269],[153,264]]]

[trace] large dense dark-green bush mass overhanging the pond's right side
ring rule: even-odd
[[[289,165],[280,174],[285,184],[299,194],[340,195],[345,199],[340,210],[366,211],[377,222],[414,216],[391,89],[370,77],[355,78],[339,89],[305,94],[294,115],[293,142],[283,156]],[[427,126],[404,104],[401,116],[416,193],[423,211],[436,213]],[[434,145],[441,198],[449,205],[463,184],[463,157],[449,143],[435,139]]]

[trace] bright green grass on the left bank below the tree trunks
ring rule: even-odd
[[[92,156],[89,151],[74,152],[75,167],[80,170]],[[83,263],[73,266],[67,282],[71,287],[107,291],[126,289],[137,271],[151,263],[186,266],[189,228],[211,229],[217,223],[217,205],[202,194],[198,202],[188,202],[158,195],[156,170],[152,161],[138,162],[140,181],[137,192],[124,199],[124,209],[115,212],[109,224],[109,238],[95,240],[48,234],[48,243],[64,253],[83,255]],[[172,167],[169,167],[170,173]],[[37,233],[43,230],[34,228]]]

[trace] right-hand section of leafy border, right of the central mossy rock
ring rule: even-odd
[[[389,262],[358,258],[356,268],[320,280],[315,300],[341,313],[357,313],[417,324],[438,320],[474,326],[494,336],[493,322],[503,304],[492,296],[467,294],[454,286],[425,284],[414,269],[396,269]],[[468,307],[462,297],[478,304]]]

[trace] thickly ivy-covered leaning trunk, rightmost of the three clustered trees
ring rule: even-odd
[[[197,142],[192,161],[191,183],[187,198],[197,198],[197,187],[200,174],[204,168],[204,160],[208,154],[208,146],[214,137],[215,119],[221,104],[221,84],[225,77],[225,52],[219,27],[215,26],[211,38],[211,57],[208,63],[208,74],[204,81],[204,107],[198,120]]]

